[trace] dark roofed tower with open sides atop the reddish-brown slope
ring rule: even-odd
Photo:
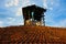
[[[22,8],[24,25],[45,25],[44,12],[46,9],[35,4]]]

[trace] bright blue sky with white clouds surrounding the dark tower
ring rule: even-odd
[[[47,26],[66,28],[66,0],[0,0],[0,26],[23,25],[22,8],[31,4],[47,9]]]

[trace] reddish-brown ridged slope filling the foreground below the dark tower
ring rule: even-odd
[[[0,28],[0,44],[66,44],[66,29],[51,26]]]

